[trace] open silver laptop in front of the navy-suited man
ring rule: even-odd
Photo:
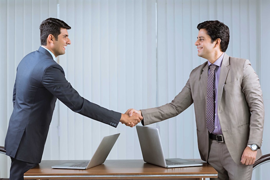
[[[93,157],[90,161],[82,161],[79,163],[63,163],[60,165],[52,166],[52,168],[62,168],[62,169],[89,169],[91,167],[98,166],[103,164],[112,150],[113,145],[115,144],[117,138],[119,137],[120,133],[105,136],[101,140],[99,146],[96,149]]]

